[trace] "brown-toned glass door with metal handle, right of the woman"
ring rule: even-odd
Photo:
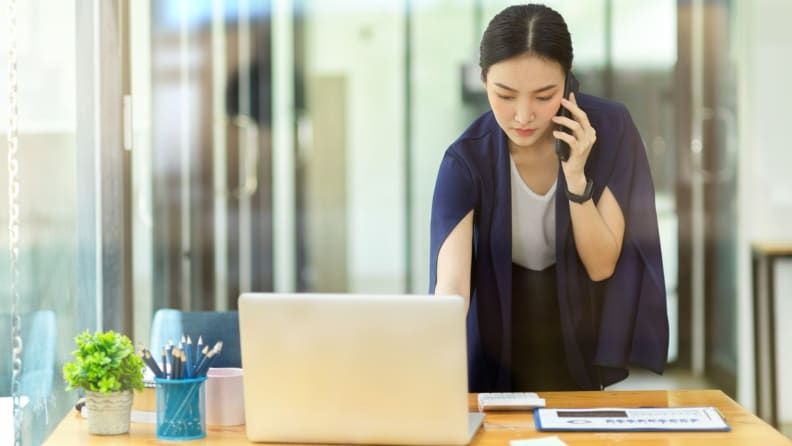
[[[736,394],[736,81],[732,2],[678,3],[683,359]]]

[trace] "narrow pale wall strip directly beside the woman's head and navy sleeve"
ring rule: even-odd
[[[412,33],[414,292],[429,289],[429,222],[437,169],[448,146],[480,112],[462,101],[462,66],[478,64],[481,29],[472,8],[416,8]]]

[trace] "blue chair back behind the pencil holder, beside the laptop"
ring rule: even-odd
[[[200,336],[204,345],[209,348],[215,342],[223,341],[223,350],[215,358],[212,367],[242,367],[239,315],[236,311],[181,311],[162,308],[154,313],[149,349],[156,358],[160,358],[168,341],[178,344],[182,336],[189,336],[193,345]]]

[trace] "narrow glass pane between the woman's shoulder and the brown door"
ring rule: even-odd
[[[603,95],[627,105],[652,169],[663,252],[670,324],[669,361],[677,359],[679,333],[678,215],[676,200],[677,2],[608,2],[610,23]],[[604,30],[603,30],[604,32]],[[645,38],[651,35],[651,39]]]

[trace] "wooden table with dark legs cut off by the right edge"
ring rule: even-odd
[[[756,413],[778,427],[776,377],[775,261],[792,258],[792,241],[751,244]]]

